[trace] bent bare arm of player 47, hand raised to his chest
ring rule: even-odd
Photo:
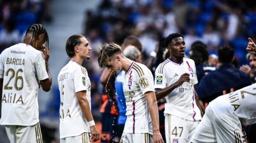
[[[164,88],[164,89],[155,89],[155,95],[156,99],[160,100],[163,97],[166,97],[169,93],[171,93],[174,89],[176,89],[178,86],[182,85],[183,82],[189,82],[189,74],[184,73],[181,75],[181,77],[178,79],[177,82],[174,82],[172,85]]]

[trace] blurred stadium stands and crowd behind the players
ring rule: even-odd
[[[92,83],[92,113],[100,121],[102,86],[98,47],[123,43],[136,35],[143,46],[143,58],[155,50],[158,41],[173,32],[184,35],[186,54],[201,40],[209,54],[230,45],[235,57],[248,64],[248,37],[256,42],[256,1],[254,0],[0,0],[0,51],[21,42],[26,29],[41,23],[49,35],[51,91],[39,91],[40,124],[45,143],[59,142],[60,97],[57,75],[69,58],[65,43],[69,36],[84,35],[92,47],[90,60],[83,62]],[[8,143],[0,126],[0,143]]]

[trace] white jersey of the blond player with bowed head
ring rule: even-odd
[[[143,64],[132,62],[127,72],[122,72],[123,90],[126,101],[126,133],[152,132],[149,107],[144,94],[154,91],[154,79],[151,71]]]

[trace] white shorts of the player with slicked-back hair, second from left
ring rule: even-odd
[[[79,136],[70,136],[60,139],[60,143],[91,143],[90,133],[84,132]]]

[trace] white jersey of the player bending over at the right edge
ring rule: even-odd
[[[216,98],[209,103],[213,111],[228,111],[237,116],[243,125],[256,123],[256,83],[233,93]],[[225,112],[225,114],[228,113]],[[218,115],[219,113],[215,113]],[[222,119],[225,122],[225,118]]]

